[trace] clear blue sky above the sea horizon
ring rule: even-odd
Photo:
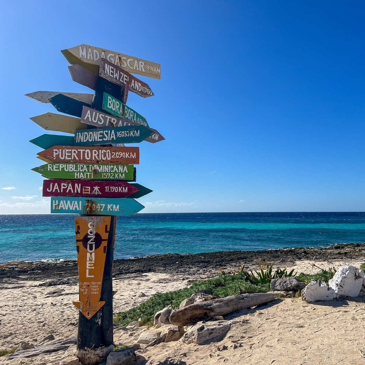
[[[364,211],[364,3],[18,1],[1,12],[2,214],[49,213],[25,93],[92,91],[60,50],[161,64],[128,106],[166,141],[139,144],[143,212]],[[4,189],[4,188],[15,189]]]

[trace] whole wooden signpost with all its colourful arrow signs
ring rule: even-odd
[[[79,300],[73,302],[79,310],[77,357],[84,365],[96,365],[114,348],[116,217],[141,211],[143,205],[134,199],[152,192],[135,183],[133,165],[139,164],[139,148],[123,144],[165,139],[126,105],[129,90],[142,97],[154,95],[148,84],[130,73],[159,79],[161,66],[87,45],[62,53],[72,64],[73,80],[95,93],[26,94],[72,115],[45,113],[31,118],[46,130],[73,134],[43,134],[31,139],[44,149],[38,158],[47,162],[32,170],[49,179],[43,181],[42,195],[51,197],[51,213],[80,214],[75,218]]]

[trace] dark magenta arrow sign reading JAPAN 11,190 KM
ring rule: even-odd
[[[138,191],[124,181],[43,180],[43,196],[127,198]]]

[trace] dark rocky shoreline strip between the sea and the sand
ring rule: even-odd
[[[165,273],[195,275],[197,272],[217,272],[239,269],[267,262],[280,266],[297,260],[331,261],[364,259],[365,243],[338,244],[323,249],[315,248],[283,248],[265,251],[217,251],[198,254],[164,254],[149,255],[133,259],[114,260],[114,277],[135,273]],[[280,263],[280,264],[279,264]],[[12,261],[0,263],[0,281],[9,278],[22,280],[65,279],[77,276],[76,260],[58,263],[34,261]],[[67,283],[65,283],[67,284]]]

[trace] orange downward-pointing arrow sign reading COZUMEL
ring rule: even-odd
[[[90,319],[104,304],[100,301],[110,216],[75,218],[79,301],[73,304]]]

